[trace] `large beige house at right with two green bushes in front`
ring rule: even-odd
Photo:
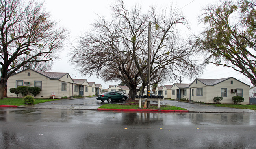
[[[191,100],[194,102],[215,103],[214,97],[221,96],[221,104],[233,104],[233,96],[241,96],[245,100],[241,104],[249,104],[249,85],[236,78],[195,79],[189,88]]]

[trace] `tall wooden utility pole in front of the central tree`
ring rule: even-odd
[[[151,62],[151,22],[148,22],[148,84],[147,95],[150,96],[150,62]],[[150,107],[150,101],[147,101],[147,108]]]

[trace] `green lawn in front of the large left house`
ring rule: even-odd
[[[34,104],[39,104],[43,102],[49,102],[59,99],[46,99],[46,98],[35,98]],[[4,98],[0,99],[0,105],[27,105],[24,103],[24,100],[22,98]]]

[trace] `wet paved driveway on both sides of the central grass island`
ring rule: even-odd
[[[126,101],[125,101],[126,102]],[[90,98],[79,98],[79,99],[61,99],[55,100],[51,102],[45,102],[36,105],[30,106],[19,106],[19,107],[26,107],[26,108],[35,108],[35,109],[80,109],[80,110],[96,110],[103,104],[117,104],[117,103],[124,103],[123,101],[120,102],[100,102],[96,99],[96,97]],[[150,102],[151,104],[157,104],[157,102]],[[248,109],[234,109],[228,107],[215,107],[213,105],[207,104],[197,104],[192,102],[178,102],[174,100],[164,100],[160,102],[161,105],[173,105],[176,107],[182,107],[189,112],[219,112],[219,113],[256,113],[255,110],[248,110]]]

